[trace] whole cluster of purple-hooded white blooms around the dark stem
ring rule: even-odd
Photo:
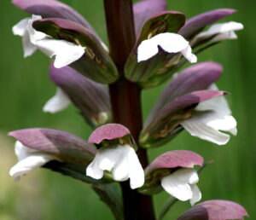
[[[187,61],[197,62],[196,55],[214,42],[237,38],[235,31],[243,28],[240,23],[213,24],[235,10],[216,9],[186,20],[180,12],[167,11],[165,0],[135,3],[136,43],[120,73],[107,46],[74,9],[54,0],[13,0],[13,3],[32,14],[13,27],[14,34],[22,38],[24,56],[39,49],[53,59],[49,75],[57,89],[45,104],[44,112],[56,113],[73,103],[95,130],[88,142],[61,130],[37,128],[10,132],[17,140],[15,153],[19,162],[9,174],[18,180],[44,166],[97,188],[130,179],[131,189],[137,189],[137,194],[152,195],[165,190],[177,200],[189,200],[191,206],[200,201],[195,165],[203,165],[201,155],[173,150],[141,165],[139,152],[170,142],[183,130],[218,145],[229,142],[228,132],[236,136],[236,119],[224,98],[227,93],[215,85],[222,67],[214,62],[201,62],[179,72]],[[126,124],[117,123],[106,84],[126,80],[147,89],[169,78],[172,78],[170,84],[137,136]],[[104,190],[106,196],[108,188]],[[218,219],[247,216],[235,203],[210,200],[194,206],[178,219],[206,215],[217,219],[218,214]]]

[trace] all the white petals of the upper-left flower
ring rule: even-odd
[[[65,67],[73,61],[79,60],[84,55],[85,48],[65,40],[57,40],[38,32],[32,27],[35,20],[42,19],[39,15],[32,15],[32,19],[26,18],[13,27],[15,35],[22,37],[24,56],[32,55],[36,49],[40,49],[50,58],[55,56],[56,68]]]

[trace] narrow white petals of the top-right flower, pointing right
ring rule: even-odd
[[[195,40],[203,39],[203,38],[211,38],[212,42],[217,42],[220,40],[225,39],[236,39],[235,31],[239,31],[243,29],[243,25],[241,23],[237,23],[234,21],[222,23],[222,24],[215,24],[210,26],[208,31],[201,32],[200,34],[195,36]]]

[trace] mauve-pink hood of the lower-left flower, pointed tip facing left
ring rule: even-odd
[[[82,165],[88,165],[96,153],[96,148],[89,143],[61,130],[44,128],[15,130],[9,132],[9,136],[15,137],[28,148],[52,154],[62,161]]]

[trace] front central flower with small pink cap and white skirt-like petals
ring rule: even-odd
[[[132,189],[144,183],[143,167],[132,146],[130,131],[121,124],[105,124],[97,128],[89,138],[100,148],[95,159],[86,169],[86,175],[101,179],[104,171],[111,171],[115,181],[130,178]]]

